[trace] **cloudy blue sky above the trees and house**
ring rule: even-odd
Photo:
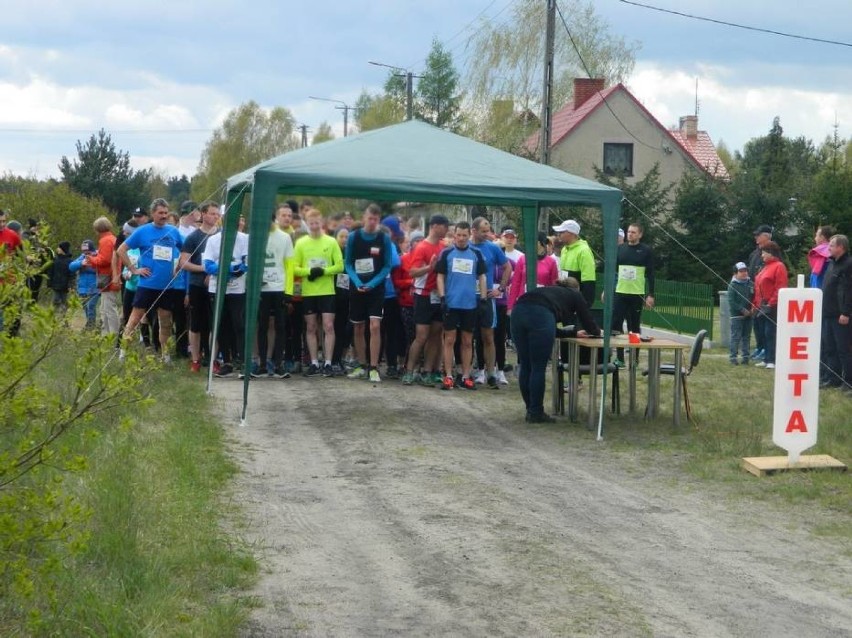
[[[435,38],[463,76],[471,34],[518,1],[0,0],[0,172],[58,177],[62,156],[104,128],[135,168],[191,176],[213,130],[248,100],[339,137],[338,104],[308,96],[353,105],[387,77],[369,61],[417,72]],[[697,79],[699,128],[731,151],[775,116],[816,144],[835,122],[852,137],[852,46],[593,1],[613,34],[639,44],[626,85],[664,125],[694,112]],[[849,0],[637,1],[852,43]]]

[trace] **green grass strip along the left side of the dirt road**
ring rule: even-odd
[[[257,564],[226,531],[237,468],[212,401],[182,367],[153,370],[146,390],[147,405],[69,435],[89,459],[66,477],[91,512],[88,540],[53,575],[56,602],[0,604],[4,634],[231,636],[245,621]]]

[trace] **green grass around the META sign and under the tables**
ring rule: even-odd
[[[643,361],[646,361],[643,358]],[[642,362],[640,362],[640,367]],[[772,443],[773,374],[754,366],[731,366],[727,349],[705,350],[688,378],[693,422],[671,422],[671,377],[661,382],[661,416],[612,416],[605,439],[619,458],[638,466],[672,464],[700,479],[704,489],[720,497],[755,499],[790,510],[808,520],[814,533],[852,542],[852,473],[839,471],[783,472],[755,477],[740,466],[745,456],[784,456]],[[627,409],[627,384],[622,409]],[[645,384],[639,381],[637,408],[644,405]],[[820,393],[816,446],[805,454],[828,454],[852,463],[852,397],[838,390]],[[582,416],[581,416],[582,418]],[[846,521],[845,524],[841,524]]]

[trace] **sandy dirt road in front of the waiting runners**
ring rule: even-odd
[[[242,384],[215,391],[236,426]],[[848,548],[525,424],[515,386],[258,380],[230,433],[262,564],[246,636],[852,636]]]

